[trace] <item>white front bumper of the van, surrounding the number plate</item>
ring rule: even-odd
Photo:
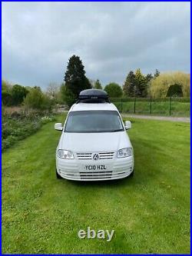
[[[108,165],[107,171],[85,171],[81,165]],[[114,158],[111,160],[77,160],[56,157],[58,175],[73,181],[105,181],[125,178],[134,171],[134,157]]]

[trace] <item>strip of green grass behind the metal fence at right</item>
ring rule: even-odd
[[[150,106],[151,104],[151,106]],[[134,113],[134,101],[120,102],[115,101],[114,105],[119,111]],[[151,109],[151,111],[150,111]],[[190,102],[174,101],[152,101],[146,99],[145,101],[136,100],[135,113],[144,115],[164,115],[164,116],[184,116],[190,117]]]

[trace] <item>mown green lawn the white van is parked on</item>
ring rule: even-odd
[[[3,254],[190,254],[190,124],[131,121],[134,178],[57,180],[53,123],[2,154]]]

